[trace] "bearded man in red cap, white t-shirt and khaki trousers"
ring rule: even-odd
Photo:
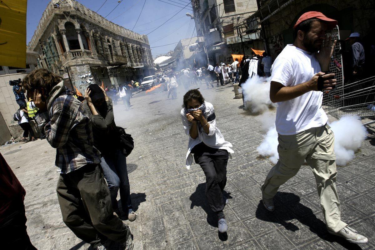
[[[294,25],[294,44],[288,44],[272,65],[270,99],[278,103],[279,160],[261,190],[264,207],[274,211],[273,197],[279,187],[306,160],[315,175],[328,232],[352,243],[366,243],[368,239],[340,217],[335,138],[322,108],[323,91],[336,85],[335,74],[328,72],[336,41],[326,37],[326,30],[336,25],[336,20],[321,12],[304,13]]]

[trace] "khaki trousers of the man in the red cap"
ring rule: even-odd
[[[279,135],[279,161],[261,187],[263,197],[271,199],[279,187],[297,174],[306,162],[317,181],[320,205],[327,228],[338,232],[347,224],[341,221],[340,201],[336,189],[335,136],[328,125],[315,127],[296,135]]]

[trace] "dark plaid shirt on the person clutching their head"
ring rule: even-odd
[[[89,115],[70,94],[58,96],[49,111],[36,115],[40,130],[56,148],[57,172],[66,174],[90,163],[100,163],[100,152],[93,147]]]

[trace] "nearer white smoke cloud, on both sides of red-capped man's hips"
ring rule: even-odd
[[[336,164],[345,166],[356,157],[356,151],[366,139],[366,128],[357,117],[344,117],[330,126],[335,134]],[[270,157],[271,162],[276,164],[279,159],[278,144],[278,133],[276,127],[272,126],[257,151],[263,157]]]

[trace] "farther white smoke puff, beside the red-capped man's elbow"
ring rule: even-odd
[[[245,109],[249,109],[253,113],[263,113],[269,107],[276,106],[270,100],[269,80],[269,78],[254,75],[241,85]]]

